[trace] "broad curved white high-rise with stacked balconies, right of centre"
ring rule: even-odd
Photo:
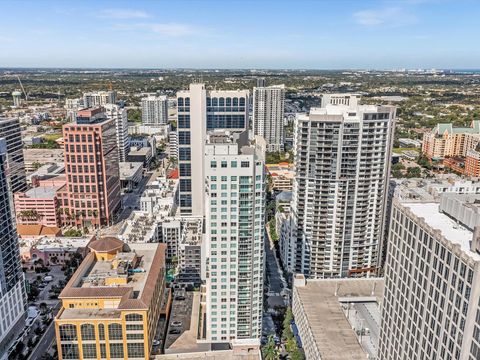
[[[310,277],[373,275],[383,245],[395,108],[342,97],[296,118],[294,244],[284,248]]]

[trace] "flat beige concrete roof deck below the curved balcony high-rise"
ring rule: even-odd
[[[378,331],[373,327],[380,326],[378,304],[383,298],[383,279],[307,280],[304,286],[302,282],[295,279],[294,291],[298,292],[322,359],[366,359],[366,352],[347,320],[346,307],[352,303],[368,306],[373,313],[365,321],[372,327],[372,340],[377,341],[373,336]]]

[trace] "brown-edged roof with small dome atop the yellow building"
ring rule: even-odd
[[[156,282],[165,266],[166,245],[126,245],[109,237],[93,241],[89,247],[94,251],[85,257],[59,298],[120,298],[116,310],[147,309],[156,296]],[[97,250],[115,250],[115,255],[112,259],[100,260]],[[79,316],[79,311],[83,310],[64,309],[59,317]],[[95,315],[96,311],[92,311],[92,316]]]

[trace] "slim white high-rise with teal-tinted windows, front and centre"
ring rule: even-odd
[[[264,144],[215,131],[204,148],[207,340],[257,341],[262,329]],[[263,147],[262,147],[263,146]]]

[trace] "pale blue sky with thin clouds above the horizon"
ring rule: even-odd
[[[0,67],[480,68],[480,1],[0,0]]]

